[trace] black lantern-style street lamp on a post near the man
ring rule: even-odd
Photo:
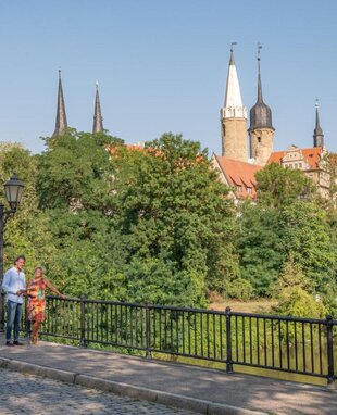
[[[16,212],[16,209],[21,202],[22,193],[25,185],[14,174],[10,180],[4,184],[4,193],[7,201],[9,202],[10,210],[5,211],[4,205],[0,204],[0,282],[3,278],[3,230],[7,219],[10,215]],[[0,287],[0,330],[4,328],[4,298],[2,295],[2,289]]]

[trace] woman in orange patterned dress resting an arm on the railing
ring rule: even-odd
[[[49,282],[47,278],[43,277],[43,268],[38,266],[34,271],[34,278],[30,279],[27,286],[27,297],[29,298],[27,305],[27,317],[33,323],[33,330],[30,335],[30,341],[33,344],[37,344],[40,324],[45,322],[46,318],[46,288],[49,288],[62,299],[65,298]]]

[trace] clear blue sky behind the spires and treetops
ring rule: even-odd
[[[230,41],[242,100],[257,98],[257,42],[275,150],[312,146],[315,98],[337,151],[334,0],[0,0],[0,140],[34,153],[54,128],[58,68],[68,124],[91,130],[95,81],[104,127],[126,142],[182,133],[220,152]]]

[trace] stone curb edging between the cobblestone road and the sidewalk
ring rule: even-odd
[[[140,386],[116,382],[113,380],[100,379],[93,376],[34,365],[32,363],[15,361],[7,357],[0,357],[0,367],[14,372],[47,377],[58,381],[64,381],[66,383],[78,385],[89,389],[113,392],[123,397],[188,410],[204,415],[267,415],[265,412],[244,410],[232,405],[214,403],[196,398],[148,389]]]

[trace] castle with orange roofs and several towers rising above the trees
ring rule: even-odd
[[[221,110],[222,155],[212,155],[212,165],[220,174],[220,180],[233,189],[236,199],[257,197],[255,173],[266,164],[278,163],[284,167],[303,171],[317,186],[322,197],[329,197],[330,177],[326,169],[327,150],[324,147],[324,134],[320,124],[316,102],[313,147],[300,149],[289,146],[284,151],[273,151],[275,128],[272,123],[272,110],[263,101],[260,50],[258,48],[258,99],[250,110],[249,147],[247,160],[246,120],[237,71],[230,49],[225,104]]]

